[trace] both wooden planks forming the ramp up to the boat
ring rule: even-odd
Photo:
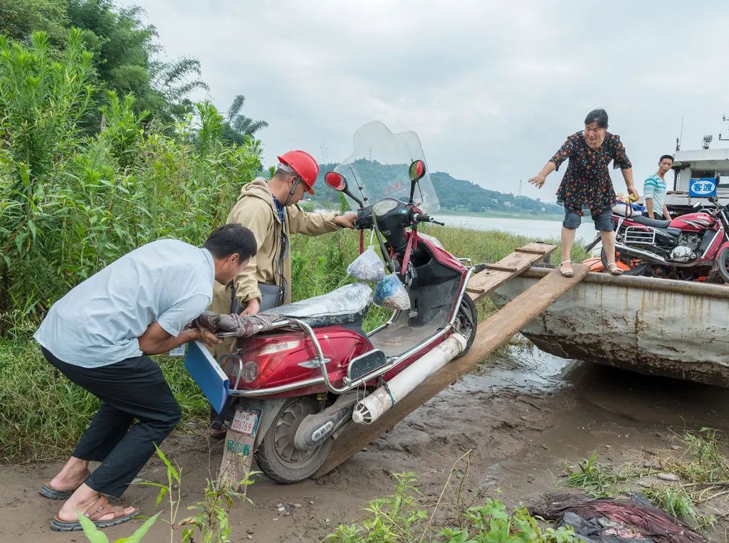
[[[544,243],[529,243],[523,249],[526,249],[526,251],[515,251],[496,262],[499,268],[510,268],[514,271],[487,268],[473,276],[469,281],[468,289],[473,289],[476,292],[473,292],[470,296],[474,300],[483,297],[510,278],[518,276],[534,262],[542,260],[545,255],[554,251],[555,246]],[[330,456],[324,461],[321,468],[313,474],[313,477],[322,477],[346,462],[381,434],[391,430],[395,424],[438,394],[443,388],[471,370],[488,353],[506,343],[512,335],[515,335],[531,319],[534,319],[555,300],[558,300],[562,294],[572,289],[588,273],[588,267],[585,265],[575,264],[573,268],[574,277],[562,277],[559,270],[553,270],[518,297],[515,297],[514,300],[504,305],[494,315],[485,321],[481,321],[478,324],[473,345],[464,356],[449,362],[424,380],[413,392],[397,402],[391,410],[384,413],[375,423],[370,425],[351,423],[348,425],[346,438],[343,437],[334,442]]]

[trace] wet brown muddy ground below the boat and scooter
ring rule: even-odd
[[[238,504],[230,515],[231,541],[319,541],[338,523],[361,517],[367,499],[391,493],[396,472],[418,473],[421,491],[437,496],[468,450],[467,501],[495,497],[500,489],[500,498],[512,505],[554,490],[564,466],[593,450],[602,463],[620,466],[669,449],[685,429],[729,432],[727,389],[564,361],[529,348],[491,362],[320,480],[278,485],[257,478],[248,492],[254,504]],[[209,444],[197,430],[177,432],[163,447],[182,466],[185,504],[201,498],[222,454],[221,444]],[[85,541],[79,532],[56,534],[48,527],[60,504],[44,499],[38,488],[59,465],[0,467],[0,541]],[[140,476],[162,481],[164,474],[155,458]],[[125,502],[153,514],[162,508],[155,507],[155,496],[133,485]],[[136,526],[134,520],[106,534],[113,540]],[[725,542],[728,525],[719,526],[710,539]],[[146,540],[169,541],[168,528],[158,522]]]

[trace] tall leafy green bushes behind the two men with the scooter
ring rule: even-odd
[[[92,60],[77,30],[59,60],[42,32],[27,47],[0,36],[0,336],[143,243],[202,243],[260,170],[260,142],[225,144],[208,102],[165,130],[109,93],[85,136]]]

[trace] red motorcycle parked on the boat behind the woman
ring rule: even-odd
[[[691,280],[716,272],[729,283],[729,210],[716,198],[709,202],[713,208],[666,221],[614,211],[615,257],[623,273]],[[607,267],[604,249],[601,257]]]

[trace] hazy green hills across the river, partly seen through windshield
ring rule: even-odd
[[[316,195],[312,197],[313,203],[322,208],[338,208],[339,196],[335,190],[324,183],[324,175],[333,170],[336,163],[322,164],[319,168],[319,178],[316,181]],[[389,186],[398,176],[402,176],[399,168],[380,164],[375,161],[358,161],[357,171],[367,171],[367,179],[377,179],[377,187],[368,187],[370,192],[384,193],[382,187]],[[346,176],[348,177],[348,176]],[[464,179],[455,179],[449,173],[432,172],[430,179],[440,200],[440,208],[444,211],[470,211],[470,212],[515,212],[531,215],[553,215],[564,213],[561,206],[553,203],[544,203],[526,196],[515,196],[512,193],[487,190],[479,185]],[[348,181],[351,180],[348,179]],[[405,179],[407,181],[407,178]]]

